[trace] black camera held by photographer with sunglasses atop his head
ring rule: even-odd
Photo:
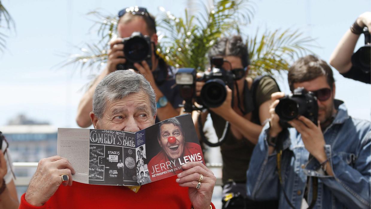
[[[118,64],[116,66],[117,70],[137,70],[134,63],[140,63],[144,60],[150,66],[150,69],[152,68],[152,47],[149,36],[142,35],[140,32],[133,32],[130,37],[122,39],[122,43],[124,44],[126,62]]]

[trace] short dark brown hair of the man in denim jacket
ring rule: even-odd
[[[292,64],[288,73],[290,90],[294,91],[294,83],[311,81],[319,76],[326,76],[330,88],[334,86],[334,75],[331,67],[315,55],[307,55],[299,58]]]

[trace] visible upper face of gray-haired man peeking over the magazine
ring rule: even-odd
[[[102,118],[90,113],[94,128],[136,132],[155,123],[150,100],[142,91],[131,93],[118,101],[107,101]]]

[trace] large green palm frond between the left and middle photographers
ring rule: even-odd
[[[253,17],[253,11],[246,7],[248,1],[220,0],[210,9],[200,2],[203,11],[185,19],[175,17],[169,11],[162,13],[158,27],[166,36],[160,42],[160,56],[177,67],[192,67],[204,70],[209,60],[207,52],[223,35],[237,31],[238,25],[246,25]]]

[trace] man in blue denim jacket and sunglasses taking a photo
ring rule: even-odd
[[[272,95],[270,123],[259,136],[247,171],[247,195],[279,200],[282,209],[370,208],[370,121],[350,117],[344,102],[334,99],[332,70],[315,56],[296,61],[288,82],[291,91],[303,87],[315,95],[289,97],[299,101],[298,109],[312,103],[306,109],[315,106],[311,110],[316,112],[288,121],[293,128],[282,128],[282,112],[295,108],[277,108],[284,93]]]

